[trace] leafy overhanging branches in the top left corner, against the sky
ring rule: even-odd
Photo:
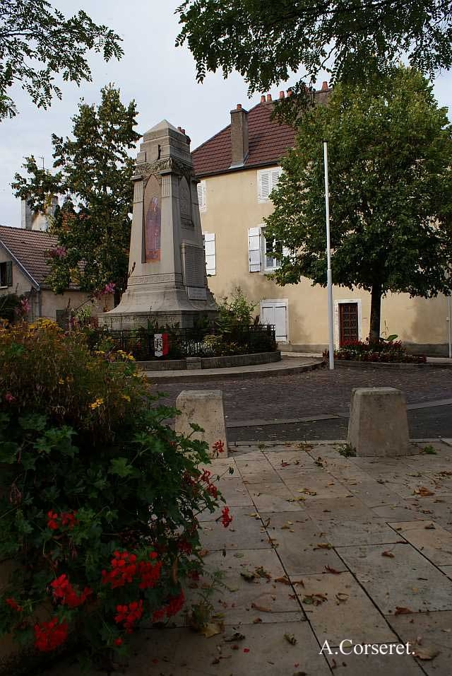
[[[61,98],[56,74],[77,84],[90,81],[86,53],[94,49],[106,61],[119,59],[120,41],[84,11],[66,18],[46,0],[0,0],[0,120],[17,114],[8,94],[15,83],[47,108],[52,95]]]

